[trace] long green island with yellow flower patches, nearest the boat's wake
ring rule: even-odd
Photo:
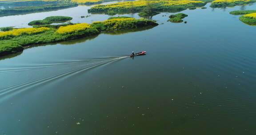
[[[39,28],[19,28],[0,32],[0,56],[20,52],[26,46],[73,40],[97,35],[104,31],[156,26],[151,20],[116,17],[92,24],[45,25]]]

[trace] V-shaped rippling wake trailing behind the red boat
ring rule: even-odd
[[[71,77],[72,75],[76,75],[79,73],[82,73],[84,71],[88,71],[92,68],[103,66],[106,64],[111,64],[113,62],[123,60],[124,58],[127,58],[129,56],[123,56],[123,57],[105,57],[105,58],[98,58],[98,59],[91,59],[91,60],[76,60],[76,61],[66,61],[66,62],[60,62],[56,64],[41,64],[36,66],[21,66],[14,67],[14,68],[5,68],[0,69],[0,75],[1,74],[16,74],[20,72],[29,72],[29,71],[42,71],[47,69],[47,71],[51,71],[53,68],[63,68],[65,71],[61,71],[55,75],[48,75],[46,77],[42,77],[39,79],[31,79],[25,82],[16,83],[14,85],[10,85],[7,87],[0,88],[0,101],[4,99],[8,99],[9,97],[16,95],[20,92],[23,92],[29,88],[38,86],[43,83],[47,83],[56,79],[61,79],[63,77]],[[68,69],[68,70],[67,70]]]

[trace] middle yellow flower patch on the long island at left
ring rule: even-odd
[[[86,30],[87,28],[90,28],[90,24],[75,24],[75,25],[68,25],[68,26],[61,26],[56,32],[60,34],[66,34],[66,33],[74,33],[79,32],[82,30]]]

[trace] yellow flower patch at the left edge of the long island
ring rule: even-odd
[[[32,35],[39,32],[44,32],[46,30],[49,30],[50,28],[41,27],[41,28],[19,28],[19,29],[13,29],[12,31],[8,32],[0,32],[0,37],[3,36],[20,36],[23,34],[26,35]]]

